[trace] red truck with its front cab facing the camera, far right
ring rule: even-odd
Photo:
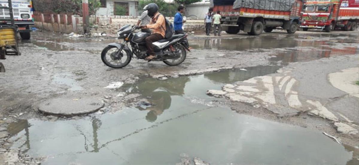
[[[356,30],[359,23],[359,0],[307,0],[302,14],[304,31],[310,28],[330,32],[336,28]]]

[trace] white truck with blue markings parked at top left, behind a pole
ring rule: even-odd
[[[0,7],[9,7],[8,0],[0,0]],[[23,40],[31,37],[30,25],[34,25],[32,0],[12,0],[15,25]],[[9,9],[0,8],[0,26],[10,25]]]

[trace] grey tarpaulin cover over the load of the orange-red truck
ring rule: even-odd
[[[251,8],[261,10],[290,11],[295,0],[211,0],[214,5],[232,5],[233,9]]]

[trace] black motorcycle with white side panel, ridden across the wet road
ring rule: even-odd
[[[121,43],[108,44],[102,50],[101,59],[104,64],[111,68],[122,68],[131,62],[133,54],[137,59],[145,59],[149,54],[146,48],[145,38],[149,33],[137,32],[139,26],[125,25],[118,30],[118,39]],[[156,57],[152,60],[163,61],[167,65],[179,65],[186,59],[186,42],[183,41],[187,34],[175,34],[170,39],[162,39],[152,43]],[[130,43],[132,50],[128,47]],[[188,50],[190,51],[190,50]]]

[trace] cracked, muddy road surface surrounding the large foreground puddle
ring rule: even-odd
[[[227,84],[222,91],[208,93],[228,97],[232,100],[229,105],[239,113],[326,131],[346,144],[359,144],[359,101],[352,84],[358,75],[358,33],[191,36],[195,49],[179,66],[132,60],[123,69],[108,68],[101,62],[99,53],[111,42],[116,40],[33,33],[31,41],[20,44],[22,56],[2,61],[6,72],[0,73],[0,126],[18,119],[66,120],[34,113],[33,106],[49,98],[97,98],[105,102],[106,111],[114,112],[139,96],[104,88],[112,82],[135,83],[143,76],[167,79],[276,65],[283,67],[278,73]],[[18,153],[8,149],[9,134],[5,130],[0,133],[5,152]],[[23,161],[36,164],[38,160]]]

